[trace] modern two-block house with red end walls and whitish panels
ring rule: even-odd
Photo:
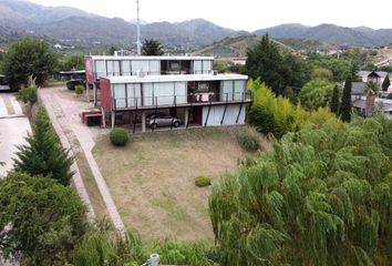
[[[94,102],[110,116],[130,117],[136,126],[146,116],[169,112],[184,126],[245,123],[247,75],[217,74],[209,57],[85,57]],[[89,88],[89,86],[87,86]],[[99,93],[100,92],[100,93]],[[140,119],[141,117],[141,119]]]

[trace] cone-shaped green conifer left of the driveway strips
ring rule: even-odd
[[[27,144],[18,146],[14,170],[31,175],[43,175],[69,185],[73,175],[73,158],[63,149],[51,129],[43,108],[38,111],[32,124],[32,134],[25,137]]]

